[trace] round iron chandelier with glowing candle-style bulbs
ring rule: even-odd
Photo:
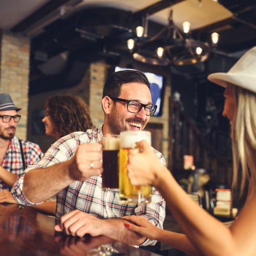
[[[147,22],[144,27],[147,28]],[[183,31],[174,24],[171,8],[167,26],[151,38],[142,37],[143,27],[137,27],[134,45],[128,48],[135,60],[157,66],[190,65],[208,59],[211,53],[210,44],[191,37],[189,22],[185,21],[182,29]],[[214,38],[212,45],[216,46],[216,34]]]

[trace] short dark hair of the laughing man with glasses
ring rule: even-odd
[[[106,80],[103,88],[102,99],[105,96],[118,98],[121,93],[122,85],[130,82],[144,83],[150,89],[150,82],[142,72],[137,70],[117,71],[112,73]]]

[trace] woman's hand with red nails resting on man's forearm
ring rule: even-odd
[[[141,216],[125,216],[122,217],[122,219],[131,221],[134,224],[131,224],[130,222],[124,223],[124,226],[134,232],[139,233],[141,236],[153,239],[153,240],[158,240],[159,237],[159,232],[161,229],[157,228],[156,226],[152,225],[147,219],[141,217]]]

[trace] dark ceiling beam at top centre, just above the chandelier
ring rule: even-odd
[[[172,5],[175,5],[175,4],[178,4],[180,2],[183,2],[185,0],[162,0],[162,1],[159,1],[153,5],[150,5],[150,6],[147,6],[146,8],[144,9],[141,9],[137,12],[134,12],[133,13],[133,17],[141,17],[143,15],[152,15],[156,12],[159,12],[165,8],[168,8]]]

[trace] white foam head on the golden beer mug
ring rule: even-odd
[[[151,145],[151,132],[125,131],[120,133],[120,148],[134,148],[136,142],[146,140]]]

